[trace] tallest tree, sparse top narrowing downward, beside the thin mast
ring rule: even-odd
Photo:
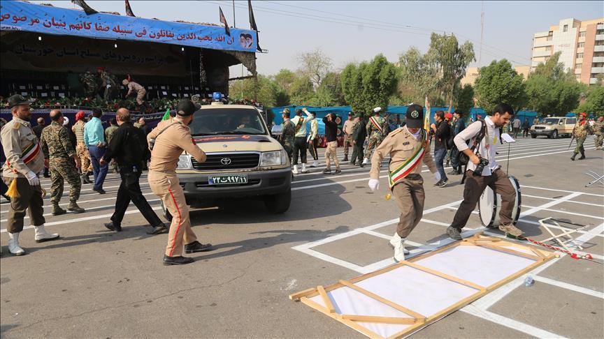
[[[466,75],[466,68],[470,62],[476,60],[474,47],[469,41],[460,46],[453,34],[447,36],[447,34],[432,33],[427,54],[429,59],[436,62],[440,75],[438,88],[447,99],[451,110],[455,90],[460,89],[459,82]]]

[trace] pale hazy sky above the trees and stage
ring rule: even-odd
[[[31,1],[78,8],[70,1]],[[96,10],[124,14],[124,1],[86,1]],[[233,26],[233,2],[131,0],[138,17],[220,23],[218,7]],[[531,63],[533,33],[549,30],[559,20],[592,20],[604,16],[604,1],[261,1],[252,0],[259,43],[259,73],[274,75],[281,68],[299,68],[297,57],[317,48],[333,68],[384,54],[391,62],[415,46],[426,52],[430,33],[455,33],[460,43],[474,44],[477,61],[487,66],[508,59],[513,65]],[[481,10],[484,9],[482,57]],[[247,1],[235,1],[235,26],[250,28]],[[247,71],[245,71],[247,74]],[[231,67],[231,77],[242,74]]]

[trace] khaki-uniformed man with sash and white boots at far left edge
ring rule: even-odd
[[[44,229],[43,199],[40,180],[36,173],[44,168],[44,156],[38,137],[31,129],[30,102],[15,94],[8,98],[8,107],[13,120],[2,128],[1,141],[6,163],[2,166],[2,178],[10,187],[15,181],[17,196],[10,198],[6,229],[8,230],[8,250],[13,255],[24,255],[19,246],[19,234],[23,230],[25,210],[29,209],[29,220],[36,229],[36,242],[59,238],[59,234],[49,234]]]

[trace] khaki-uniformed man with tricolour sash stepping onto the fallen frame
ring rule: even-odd
[[[430,172],[440,180],[436,164],[430,155],[428,132],[422,129],[424,110],[422,106],[407,107],[407,123],[390,133],[377,146],[371,158],[369,188],[375,192],[380,188],[380,164],[385,156],[390,156],[389,183],[392,194],[396,197],[401,217],[390,244],[394,247],[394,260],[405,260],[405,240],[411,231],[422,220],[424,213],[424,179],[422,179],[422,162],[428,165]]]

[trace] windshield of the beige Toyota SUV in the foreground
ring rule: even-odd
[[[195,114],[192,135],[266,135],[261,116],[254,108],[208,108]]]

